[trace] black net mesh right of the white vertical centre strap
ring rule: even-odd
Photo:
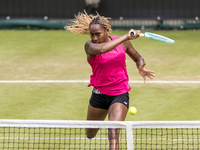
[[[135,149],[200,149],[198,128],[135,129]]]

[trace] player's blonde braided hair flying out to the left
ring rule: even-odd
[[[97,13],[97,12],[96,12]],[[111,25],[108,21],[111,18],[107,18],[104,16],[97,15],[88,15],[87,12],[79,12],[78,15],[75,15],[75,19],[72,20],[72,24],[70,26],[65,26],[65,29],[76,33],[76,34],[90,34],[89,27],[91,24],[99,24],[105,29],[109,29],[111,31]]]

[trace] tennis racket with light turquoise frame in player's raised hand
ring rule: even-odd
[[[131,36],[136,36],[135,32],[131,32]],[[174,44],[174,42],[175,42],[174,40],[172,40],[170,38],[167,38],[165,36],[158,35],[155,33],[150,33],[150,32],[140,33],[139,36],[150,38],[150,39],[161,41],[161,42],[165,42],[165,43],[170,43],[170,44]]]

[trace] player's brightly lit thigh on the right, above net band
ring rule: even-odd
[[[108,110],[108,119],[110,121],[124,121],[128,108],[122,103],[114,103]]]

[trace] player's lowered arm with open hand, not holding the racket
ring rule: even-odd
[[[144,78],[144,82],[146,81],[146,76],[150,79],[153,79],[155,75],[154,71],[145,69],[145,61],[142,56],[135,50],[130,41],[126,41],[123,44],[123,47],[126,49],[126,53],[130,56],[130,58],[136,63],[136,66],[139,70],[140,75]]]

